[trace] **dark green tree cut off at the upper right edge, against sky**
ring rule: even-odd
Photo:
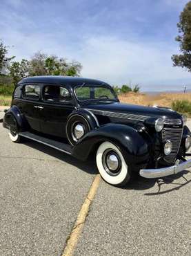
[[[180,35],[176,37],[176,41],[180,44],[181,54],[172,55],[173,66],[181,66],[191,71],[191,1],[181,12],[177,27]]]

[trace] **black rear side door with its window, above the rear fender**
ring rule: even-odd
[[[30,129],[41,131],[41,120],[39,116],[39,101],[41,98],[40,84],[25,84],[22,89],[20,109],[26,117]]]

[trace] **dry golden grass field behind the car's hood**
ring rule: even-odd
[[[119,100],[124,103],[139,104],[144,106],[163,106],[171,107],[174,100],[189,100],[191,102],[191,93],[159,93],[157,95],[148,95],[144,93],[126,93],[119,95]]]

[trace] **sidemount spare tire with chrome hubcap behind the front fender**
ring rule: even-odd
[[[84,116],[76,113],[70,116],[66,124],[66,135],[70,144],[72,146],[77,144],[78,140],[91,129],[90,123]]]

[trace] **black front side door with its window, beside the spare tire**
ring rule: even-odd
[[[41,131],[66,138],[66,121],[74,110],[70,91],[63,85],[45,84],[42,89]]]

